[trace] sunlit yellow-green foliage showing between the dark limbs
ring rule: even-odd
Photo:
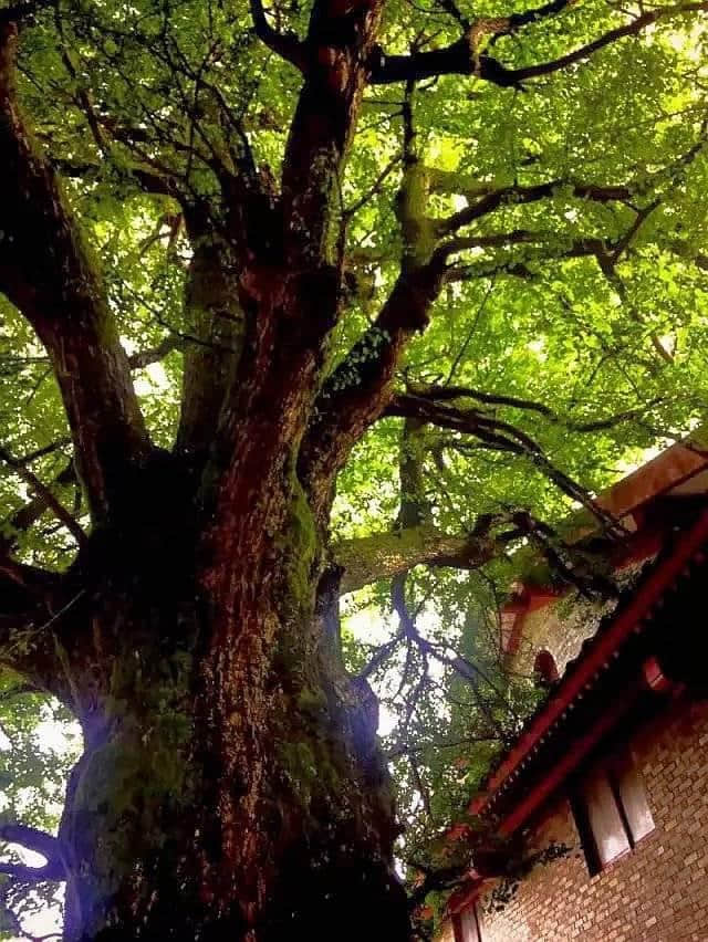
[[[517,4],[486,0],[472,11],[464,0],[460,8],[471,18]],[[493,54],[508,67],[550,61],[638,11],[604,0],[574,4],[493,42]],[[279,29],[302,35],[310,3],[277,2],[271,13]],[[459,32],[442,2],[392,0],[381,43],[406,53],[444,46]],[[690,11],[523,88],[459,75],[417,83],[417,158],[448,175],[421,214],[450,217],[490,189],[553,186],[543,199],[511,197],[462,229],[478,244],[454,253],[457,274],[399,365],[402,390],[457,385],[525,400],[473,405],[532,438],[592,493],[704,418],[706,62],[705,13]],[[183,304],[190,247],[180,207],[156,180],[175,175],[215,227],[228,226],[218,210],[219,164],[238,166],[231,140],[242,128],[259,172],[278,180],[299,75],[256,39],[241,0],[59,0],[23,29],[20,66],[24,108],[101,261],[128,354],[171,347],[135,369],[150,431],[169,447],[181,349],[192,337]],[[367,90],[341,181],[335,216],[346,278],[333,366],[399,272],[403,96],[396,84]],[[629,192],[598,200],[579,195],[581,184]],[[75,481],[56,483],[71,444],[44,352],[2,297],[0,315],[0,443],[85,521]],[[357,446],[339,480],[334,541],[394,526],[400,432],[402,420],[386,418]],[[473,436],[429,427],[421,464],[431,519],[446,532],[471,531],[480,514],[518,507],[554,524],[571,509],[528,454]],[[28,528],[13,525],[31,496],[27,481],[0,462],[2,540],[19,559],[64,568],[75,545],[51,512]],[[478,689],[442,663],[426,677],[420,652],[405,645],[373,674],[393,726],[387,744],[408,818],[405,840],[416,854],[537,695],[525,681],[508,687],[497,663],[497,610],[513,572],[513,559],[502,558],[471,574],[420,568],[408,580],[420,631],[475,663]],[[360,609],[345,618],[344,641],[351,666],[362,670],[372,646],[397,631],[389,586],[368,587],[345,605],[350,614]],[[39,749],[37,723],[54,708],[37,695],[8,695],[12,683],[0,691],[11,743],[2,752],[2,810],[51,829],[70,757]]]

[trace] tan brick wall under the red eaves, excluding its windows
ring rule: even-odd
[[[565,799],[531,845],[572,845],[538,866],[501,912],[480,900],[483,942],[708,942],[708,704],[676,704],[632,742],[655,830],[590,877]]]

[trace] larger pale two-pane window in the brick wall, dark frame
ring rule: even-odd
[[[572,806],[593,875],[654,830],[642,776],[626,754],[592,766],[575,789]]]

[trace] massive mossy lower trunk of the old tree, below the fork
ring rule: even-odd
[[[65,939],[407,939],[376,703],[343,669],[306,503],[251,541],[267,564],[231,561],[230,610],[160,516],[82,563]]]

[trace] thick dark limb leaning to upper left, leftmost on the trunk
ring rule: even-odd
[[[94,519],[149,453],[129,366],[98,273],[14,87],[17,33],[0,29],[0,291],[28,318],[56,374]]]

